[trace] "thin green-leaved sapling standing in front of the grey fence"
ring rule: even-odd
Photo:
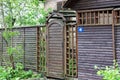
[[[12,45],[12,38],[15,36],[18,36],[18,31],[12,31],[11,28],[6,28],[5,31],[2,33],[2,36],[6,42],[6,53],[9,55],[9,60],[7,60],[5,57],[2,57],[3,60],[6,63],[6,66],[12,66],[14,68],[14,62],[15,60],[18,60],[18,58],[21,58],[21,55],[23,53],[23,49],[21,46],[13,46]],[[13,56],[13,54],[15,56]]]

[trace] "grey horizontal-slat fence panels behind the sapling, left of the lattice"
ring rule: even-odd
[[[45,29],[44,25],[16,27],[12,29],[12,31],[17,31],[19,33],[19,35],[12,37],[12,41],[11,41],[12,47],[17,48],[18,50],[17,54],[13,53],[15,64],[16,62],[23,63],[24,68],[26,70],[31,69],[36,71],[37,66],[41,67],[41,65],[39,65],[40,62],[37,62],[38,60],[40,60],[37,57],[41,56],[42,54],[42,52],[40,52],[41,46],[38,46],[39,50],[37,50],[37,37],[41,35],[45,35],[45,33],[39,31],[41,34],[37,35],[37,28],[41,28],[41,30]],[[6,52],[7,50],[6,41],[2,37],[3,31],[4,29],[1,28],[0,29],[0,65],[5,66],[8,65],[6,63],[10,61],[10,58],[8,53]],[[40,38],[45,39],[45,37],[42,36]],[[40,43],[38,43],[38,45],[40,45]],[[36,54],[37,52],[40,52],[40,54],[37,55]]]

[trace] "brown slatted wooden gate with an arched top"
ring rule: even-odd
[[[51,16],[53,15],[56,14]],[[49,21],[47,23],[47,76],[63,78],[65,24],[62,19]]]

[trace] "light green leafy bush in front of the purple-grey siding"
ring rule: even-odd
[[[97,74],[103,76],[103,80],[120,80],[120,67],[118,64],[115,66],[106,66],[105,68],[95,66],[95,68],[98,69]]]

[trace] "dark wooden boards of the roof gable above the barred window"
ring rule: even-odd
[[[72,9],[75,10],[107,8],[120,6],[120,0],[78,0],[72,5]]]

